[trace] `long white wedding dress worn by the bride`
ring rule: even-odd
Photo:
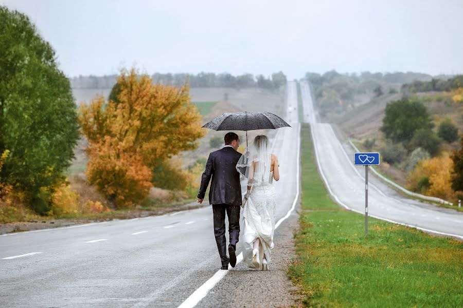
[[[275,230],[276,196],[273,185],[273,171],[270,172],[269,181],[254,185],[250,197],[242,211],[243,213],[243,260],[251,268],[262,269],[262,262],[268,268],[271,261],[273,232]],[[259,238],[258,266],[253,263],[253,245]]]

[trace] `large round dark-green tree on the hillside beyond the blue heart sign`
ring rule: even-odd
[[[403,98],[387,104],[381,131],[394,142],[408,143],[418,129],[433,127],[423,103],[417,98]]]

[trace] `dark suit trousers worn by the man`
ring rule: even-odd
[[[219,249],[222,265],[228,265],[227,240],[225,238],[225,212],[228,217],[228,235],[230,244],[236,248],[240,236],[240,209],[239,205],[212,204],[214,216],[214,235]]]

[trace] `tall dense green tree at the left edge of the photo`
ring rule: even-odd
[[[0,153],[10,151],[0,177],[45,214],[44,191],[74,157],[76,105],[55,51],[26,15],[0,7],[0,46]]]

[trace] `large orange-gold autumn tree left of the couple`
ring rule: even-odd
[[[115,87],[116,99],[97,97],[81,105],[89,142],[87,179],[117,206],[130,206],[148,195],[153,170],[196,148],[204,131],[188,85],[153,84],[149,75],[132,69],[121,72]]]

